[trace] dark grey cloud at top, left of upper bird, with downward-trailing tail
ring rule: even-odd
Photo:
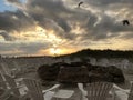
[[[66,9],[61,0],[32,0],[28,2],[27,8],[28,12],[40,24],[47,24],[44,19],[51,19],[63,29],[64,32],[71,30],[66,14],[72,14],[72,11]]]

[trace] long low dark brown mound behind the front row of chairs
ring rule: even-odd
[[[124,76],[121,69],[114,66],[100,67],[84,62],[44,64],[39,67],[38,74],[43,81],[58,81],[62,83],[86,83],[95,81],[124,82]]]

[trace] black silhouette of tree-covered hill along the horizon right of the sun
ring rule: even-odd
[[[93,58],[133,58],[133,50],[91,50],[91,49],[84,49],[81,51],[78,51],[75,53],[60,56],[60,57],[80,57],[80,58],[86,58],[86,57],[93,57]]]

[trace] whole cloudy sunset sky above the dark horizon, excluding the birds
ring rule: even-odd
[[[0,54],[133,50],[132,9],[133,0],[0,0]]]

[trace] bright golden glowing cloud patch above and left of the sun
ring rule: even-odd
[[[16,38],[18,42],[51,42],[51,43],[59,43],[62,41],[61,38],[57,37],[53,30],[47,30],[41,27],[35,27],[33,30],[29,31],[21,31],[21,32],[13,32],[12,37]]]

